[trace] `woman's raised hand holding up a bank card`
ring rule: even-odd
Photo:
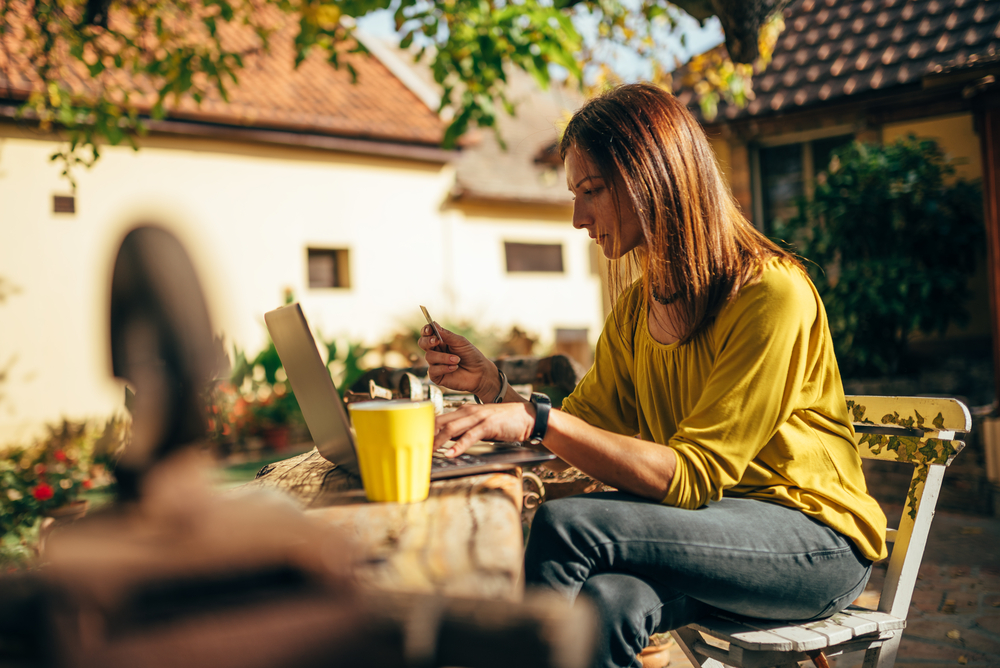
[[[472,392],[480,399],[488,397],[487,400],[492,400],[500,392],[500,375],[496,365],[464,336],[441,325],[437,327],[443,341],[437,338],[430,325],[424,325],[417,340],[417,345],[424,351],[430,379],[450,390]]]

